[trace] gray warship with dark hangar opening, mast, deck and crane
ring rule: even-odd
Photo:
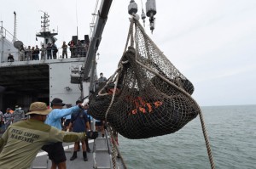
[[[154,31],[155,2],[148,0],[153,9],[150,15],[150,30]],[[96,22],[93,23],[90,36],[84,36],[84,42],[89,46],[86,55],[64,58],[59,48],[56,59],[22,59],[20,60],[20,46],[23,42],[16,39],[9,31],[1,26],[0,30],[0,109],[5,110],[9,105],[21,105],[23,110],[28,110],[33,101],[42,101],[47,104],[54,98],[61,98],[66,104],[72,104],[73,100],[85,99],[90,93],[96,91],[96,52],[100,46],[102,32],[108,20],[108,12],[112,0],[102,0],[100,7],[95,12]],[[128,7],[129,14],[135,19],[139,17],[137,4],[131,0]],[[147,11],[147,15],[148,15]],[[42,31],[37,37],[44,38],[44,46],[55,42],[57,32],[49,31],[47,13],[42,17]],[[142,14],[145,20],[146,15]],[[9,38],[10,37],[10,38]],[[73,42],[78,40],[73,36]],[[8,55],[12,54],[15,61],[9,61]],[[176,87],[177,88],[177,87]],[[180,90],[180,89],[178,89]],[[182,90],[182,93],[184,91]],[[187,95],[187,93],[186,93]],[[112,131],[105,130],[105,138],[101,136],[90,140],[88,154],[89,161],[82,161],[82,155],[78,154],[76,161],[69,161],[73,152],[73,144],[64,144],[67,155],[67,168],[126,168],[125,161],[113,141]],[[211,150],[208,151],[211,156]],[[80,156],[79,156],[80,155]],[[212,162],[212,159],[210,158]],[[214,168],[213,162],[211,163]],[[50,168],[51,164],[44,151],[38,153],[31,168]]]

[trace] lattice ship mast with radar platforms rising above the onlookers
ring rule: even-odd
[[[49,31],[49,14],[47,14],[44,11],[41,11],[41,12],[44,13],[44,16],[41,16],[42,29],[36,36],[44,38],[44,47],[46,47],[48,43],[53,43],[57,41],[57,38],[55,38],[55,36],[58,35],[58,32],[54,32],[55,30],[53,30],[52,32]]]

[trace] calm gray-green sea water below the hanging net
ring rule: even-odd
[[[256,105],[201,110],[216,168],[256,168]],[[142,140],[119,136],[119,150],[128,168],[211,168],[199,116],[166,136]]]

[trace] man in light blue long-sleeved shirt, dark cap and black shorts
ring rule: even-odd
[[[51,101],[52,111],[47,116],[45,124],[49,126],[56,127],[61,130],[61,118],[66,115],[71,115],[73,112],[79,112],[83,110],[83,105],[78,104],[68,109],[62,109],[65,104],[62,103],[61,99],[55,98]],[[49,155],[49,160],[52,162],[51,169],[58,168],[66,169],[66,155],[62,146],[62,142],[57,142],[55,144],[44,145],[42,147]]]

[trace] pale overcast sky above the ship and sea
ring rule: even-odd
[[[100,3],[101,1],[99,1]],[[146,0],[135,1],[137,14]],[[112,76],[125,49],[130,0],[113,0],[98,50],[97,72]],[[61,47],[79,29],[79,38],[90,34],[96,0],[0,0],[0,21],[26,46],[40,44],[43,12],[49,28],[58,31]],[[143,7],[142,7],[143,4]],[[145,30],[166,57],[193,82],[192,97],[201,106],[256,104],[256,1],[255,0],[156,0],[153,34],[148,18]],[[142,21],[142,20],[141,20]]]

